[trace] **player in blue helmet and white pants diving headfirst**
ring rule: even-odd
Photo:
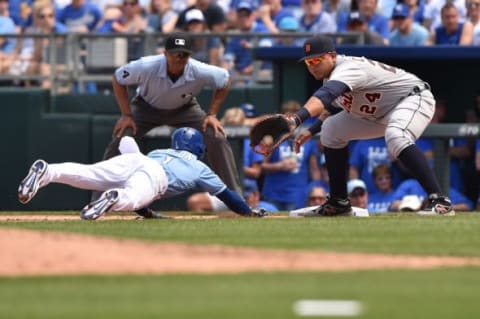
[[[86,165],[47,164],[36,160],[18,188],[18,199],[28,203],[37,191],[50,183],[67,184],[80,189],[103,192],[81,211],[82,219],[97,219],[108,211],[135,211],[154,200],[189,190],[208,192],[242,216],[263,217],[265,211],[252,210],[248,204],[200,159],[205,155],[202,134],[182,127],[172,134],[170,149],[140,153],[132,137],[125,136],[119,156]]]

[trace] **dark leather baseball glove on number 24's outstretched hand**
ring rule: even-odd
[[[250,131],[250,147],[256,153],[268,156],[295,130],[291,115],[274,114],[256,123]]]

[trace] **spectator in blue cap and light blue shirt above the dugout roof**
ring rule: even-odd
[[[393,8],[394,30],[390,34],[390,46],[423,46],[428,41],[428,30],[414,23],[406,4]]]

